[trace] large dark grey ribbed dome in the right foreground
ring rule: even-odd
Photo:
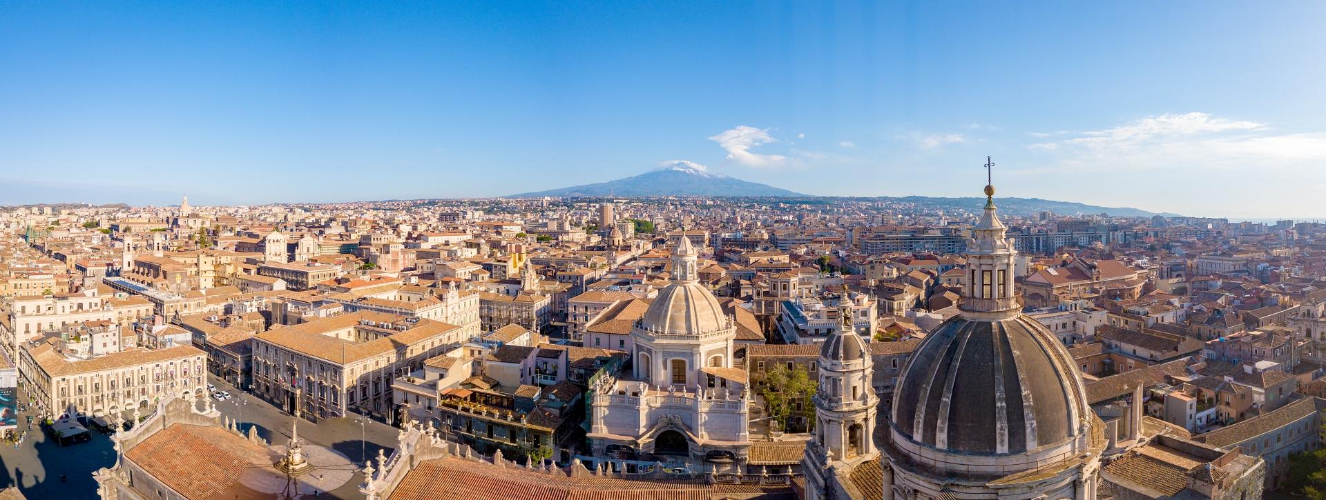
[[[926,336],[894,403],[896,434],[945,452],[1012,455],[1082,433],[1086,390],[1036,320],[949,319]]]

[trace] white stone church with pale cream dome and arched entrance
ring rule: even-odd
[[[751,396],[732,362],[736,323],[699,284],[695,245],[678,241],[672,282],[631,331],[631,373],[591,382],[587,438],[595,456],[743,470]]]

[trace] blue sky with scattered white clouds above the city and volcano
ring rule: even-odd
[[[1264,5],[1261,5],[1264,7]],[[1326,3],[0,3],[0,204],[815,194],[1326,217]]]

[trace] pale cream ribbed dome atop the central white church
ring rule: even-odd
[[[728,325],[719,299],[695,282],[671,283],[660,290],[640,321],[650,332],[686,335],[715,332]]]

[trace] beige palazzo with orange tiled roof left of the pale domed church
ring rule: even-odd
[[[367,311],[277,327],[253,337],[253,392],[309,419],[389,414],[391,382],[447,352],[459,328]]]

